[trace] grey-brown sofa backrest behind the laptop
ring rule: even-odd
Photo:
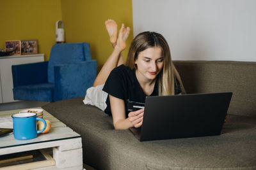
[[[228,113],[256,117],[256,62],[175,61],[188,93],[233,92]]]

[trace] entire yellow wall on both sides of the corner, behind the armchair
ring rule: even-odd
[[[0,48],[4,42],[38,39],[39,53],[49,60],[55,42],[55,24],[63,20],[66,42],[90,43],[98,71],[112,51],[104,22],[112,18],[131,27],[127,48],[132,41],[132,0],[0,0]],[[123,52],[125,58],[127,51]]]

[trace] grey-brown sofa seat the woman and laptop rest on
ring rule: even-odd
[[[83,97],[42,108],[81,134],[84,162],[97,169],[256,169],[256,118],[229,115],[220,136],[140,142]]]

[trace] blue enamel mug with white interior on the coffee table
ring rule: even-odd
[[[46,122],[36,117],[36,113],[16,113],[12,115],[13,135],[15,139],[26,140],[36,138],[37,134],[44,132]],[[36,120],[44,122],[44,129],[36,131]]]

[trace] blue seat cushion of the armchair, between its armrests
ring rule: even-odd
[[[13,98],[26,101],[49,101],[53,99],[54,84],[41,83],[13,88]]]

